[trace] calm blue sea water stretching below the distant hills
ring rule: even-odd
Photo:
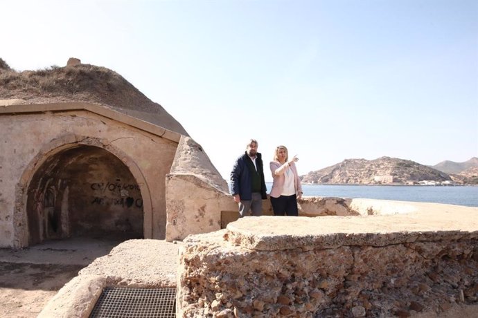
[[[267,193],[272,183],[266,183]],[[302,185],[303,196],[372,198],[478,207],[478,187],[427,185]]]

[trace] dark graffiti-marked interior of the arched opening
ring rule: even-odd
[[[56,153],[28,186],[29,245],[71,236],[143,238],[143,200],[112,153],[79,146]]]

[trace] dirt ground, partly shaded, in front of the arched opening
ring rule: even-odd
[[[65,283],[118,241],[73,238],[0,249],[0,317],[37,317]]]

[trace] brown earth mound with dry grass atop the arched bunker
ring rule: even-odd
[[[118,73],[101,66],[76,64],[18,72],[0,59],[0,100],[22,104],[89,102],[100,104],[188,135],[163,107],[152,102]]]

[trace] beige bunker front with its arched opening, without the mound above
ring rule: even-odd
[[[165,238],[179,133],[94,104],[0,107],[0,246]]]

